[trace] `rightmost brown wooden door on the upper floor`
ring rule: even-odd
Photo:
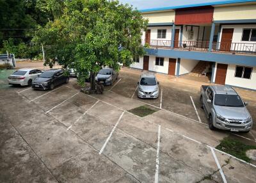
[[[230,51],[234,29],[222,29],[220,51]]]

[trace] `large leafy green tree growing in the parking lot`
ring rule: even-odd
[[[63,2],[63,13],[39,29],[34,41],[45,45],[47,59],[58,58],[64,68],[75,68],[81,86],[88,72],[93,90],[102,67],[119,70],[119,63],[130,65],[134,55],[144,54],[141,30],[147,20],[132,6],[107,0]]]

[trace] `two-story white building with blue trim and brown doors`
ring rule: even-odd
[[[256,90],[256,1],[220,1],[140,10],[147,55],[133,68]]]

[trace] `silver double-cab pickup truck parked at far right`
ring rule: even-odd
[[[246,109],[247,102],[230,86],[202,86],[201,105],[209,118],[209,128],[249,132],[252,116]]]

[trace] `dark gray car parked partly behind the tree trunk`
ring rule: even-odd
[[[106,85],[112,85],[118,79],[118,72],[113,68],[103,68],[95,77],[96,81],[102,81]]]

